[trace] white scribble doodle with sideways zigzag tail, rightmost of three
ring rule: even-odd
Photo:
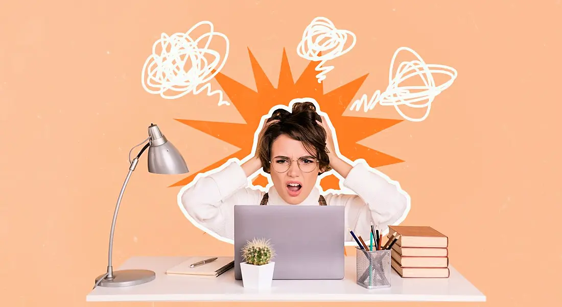
[[[396,61],[396,57],[400,51],[409,51],[413,53],[418,60],[401,62],[396,69],[396,76],[393,78],[392,70],[394,68],[394,62]],[[447,82],[436,86],[432,74],[445,74],[448,75],[450,79]],[[419,76],[423,80],[423,86],[400,86],[400,83],[415,76]],[[361,99],[353,102],[350,109],[353,110],[355,108],[355,111],[359,111],[361,105],[363,105],[364,111],[367,112],[379,103],[382,106],[394,106],[396,111],[398,111],[398,113],[400,113],[400,115],[406,120],[420,122],[428,117],[433,99],[451,86],[456,77],[457,71],[455,68],[438,64],[426,64],[422,57],[420,57],[419,54],[412,49],[400,47],[394,53],[390,63],[387,89],[383,93],[380,93],[380,90],[375,91],[369,103],[367,103],[367,95],[362,95]],[[424,100],[427,100],[427,102],[416,104],[423,102]],[[424,116],[420,118],[413,118],[406,116],[406,114],[401,111],[398,106],[401,106],[402,104],[406,104],[406,106],[413,108],[427,107],[427,109]]]

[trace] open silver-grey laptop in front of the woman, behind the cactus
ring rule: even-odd
[[[244,244],[264,238],[276,254],[273,279],[342,279],[344,221],[343,206],[235,205],[235,278],[242,279]]]

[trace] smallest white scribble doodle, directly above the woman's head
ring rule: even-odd
[[[351,37],[352,42],[344,49],[348,37]],[[351,31],[336,29],[336,26],[329,19],[316,17],[302,34],[302,40],[297,46],[297,53],[310,61],[321,61],[316,66],[316,71],[320,72],[316,75],[316,78],[318,78],[318,83],[321,83],[326,79],[325,74],[334,69],[334,66],[323,67],[323,65],[330,59],[337,58],[350,51],[355,46],[355,42],[355,34]],[[320,52],[322,52],[321,56],[318,55]]]

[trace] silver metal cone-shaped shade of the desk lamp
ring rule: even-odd
[[[166,139],[157,125],[151,124],[148,127],[148,135],[148,172],[167,175],[189,172],[182,154]]]

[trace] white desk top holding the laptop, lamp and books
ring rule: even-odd
[[[274,280],[271,289],[259,291],[244,288],[234,279],[234,269],[219,277],[165,274],[184,259],[130,258],[120,269],[151,269],[156,279],[132,287],[96,287],[86,301],[486,301],[452,267],[449,278],[401,278],[392,270],[392,287],[369,290],[355,282],[355,256],[347,256],[345,279]]]

